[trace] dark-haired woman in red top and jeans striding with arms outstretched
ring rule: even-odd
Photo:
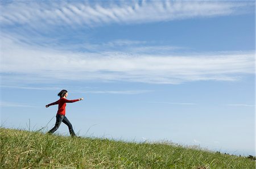
[[[73,103],[73,102],[77,102],[80,100],[84,100],[84,98],[80,98],[80,99],[76,99],[76,100],[67,100],[66,98],[68,97],[68,91],[67,90],[61,90],[58,94],[58,96],[60,96],[60,99],[57,100],[57,102],[51,103],[51,104],[47,104],[46,108],[49,107],[50,105],[55,105],[55,104],[59,104],[59,108],[57,111],[57,115],[56,115],[56,123],[55,126],[49,130],[49,134],[52,134],[53,132],[55,132],[61,122],[64,122],[64,124],[66,124],[68,126],[69,129],[69,133],[72,137],[76,136],[72,124],[71,122],[69,122],[69,120],[67,119],[67,117],[65,116],[65,107],[66,107],[66,103]]]

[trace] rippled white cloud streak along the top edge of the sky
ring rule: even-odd
[[[176,19],[233,15],[249,11],[253,2],[231,1],[139,1],[121,2],[39,2],[14,1],[1,5],[2,25],[25,24],[100,26],[109,23],[147,23]]]

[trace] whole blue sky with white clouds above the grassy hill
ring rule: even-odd
[[[2,126],[255,155],[254,1],[0,5]]]

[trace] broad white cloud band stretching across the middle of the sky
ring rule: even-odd
[[[31,48],[2,39],[5,79],[126,81],[179,84],[188,81],[236,81],[254,74],[254,52],[171,54],[81,53]],[[27,79],[28,78],[28,79]]]

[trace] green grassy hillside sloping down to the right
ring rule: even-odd
[[[255,168],[255,160],[167,143],[71,138],[0,128],[0,168]]]

